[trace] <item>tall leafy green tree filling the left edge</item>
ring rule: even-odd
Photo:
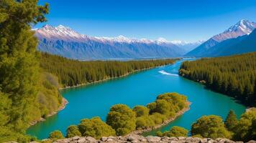
[[[32,24],[45,21],[48,5],[37,6],[37,0],[0,1],[0,98],[7,106],[0,116],[0,142],[19,140],[26,142],[25,129],[40,118],[36,101],[38,93],[39,63],[37,39]],[[23,138],[23,139],[22,139]]]

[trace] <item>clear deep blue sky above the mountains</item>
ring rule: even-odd
[[[45,2],[47,24],[90,36],[197,41],[240,19],[256,21],[256,0],[40,0]]]

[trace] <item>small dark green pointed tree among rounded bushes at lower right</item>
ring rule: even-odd
[[[227,115],[227,118],[225,120],[225,127],[229,131],[233,131],[234,127],[236,127],[236,125],[237,125],[237,115],[234,114],[233,110],[230,110],[229,114]]]

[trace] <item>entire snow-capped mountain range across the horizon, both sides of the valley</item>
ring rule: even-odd
[[[70,59],[150,59],[178,56],[227,56],[256,51],[256,23],[241,20],[207,41],[189,43],[130,39],[125,36],[97,37],[79,34],[67,26],[45,25],[35,29],[38,49]]]

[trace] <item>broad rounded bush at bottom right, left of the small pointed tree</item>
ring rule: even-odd
[[[201,137],[209,137],[216,139],[219,137],[230,139],[231,134],[224,126],[224,122],[221,117],[210,115],[203,116],[198,119],[191,127],[191,134],[201,135]]]

